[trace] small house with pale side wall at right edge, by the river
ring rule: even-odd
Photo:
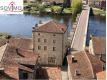
[[[106,38],[91,37],[89,52],[106,63]]]

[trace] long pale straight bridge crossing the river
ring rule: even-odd
[[[85,49],[89,13],[90,13],[90,7],[88,5],[85,5],[80,14],[79,20],[77,22],[77,27],[72,37],[71,53],[75,53],[77,51],[83,51]]]

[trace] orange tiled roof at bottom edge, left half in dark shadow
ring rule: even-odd
[[[59,67],[41,67],[37,69],[37,79],[61,80],[61,69]]]

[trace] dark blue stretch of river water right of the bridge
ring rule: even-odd
[[[90,16],[86,45],[89,45],[90,35],[106,37],[106,18]]]

